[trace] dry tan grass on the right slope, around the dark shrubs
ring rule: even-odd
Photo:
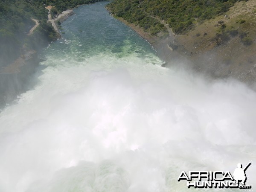
[[[234,76],[240,74],[240,79],[247,81],[248,73],[255,74],[256,64],[256,0],[249,0],[247,2],[241,1],[236,3],[230,10],[225,13],[227,15],[219,15],[214,19],[207,20],[204,23],[196,23],[195,28],[188,32],[186,35],[177,35],[176,39],[180,44],[183,44],[186,49],[192,52],[191,58],[194,60],[201,59],[202,55],[215,62],[216,68],[228,68],[223,70],[223,76],[226,73],[233,73]],[[226,24],[224,29],[226,32],[229,30],[237,30],[239,34],[246,34],[247,39],[252,43],[244,45],[239,35],[230,37],[230,41],[224,42],[217,46],[213,40],[216,33],[221,33],[221,26],[215,25],[219,20],[223,20]],[[243,23],[243,20],[245,21]],[[207,35],[204,35],[207,33]],[[200,35],[198,35],[200,34]],[[206,56],[207,55],[207,56]],[[226,64],[226,65],[224,65]],[[222,73],[222,72],[220,72]],[[241,76],[241,73],[244,74]],[[254,75],[253,75],[254,76]]]

